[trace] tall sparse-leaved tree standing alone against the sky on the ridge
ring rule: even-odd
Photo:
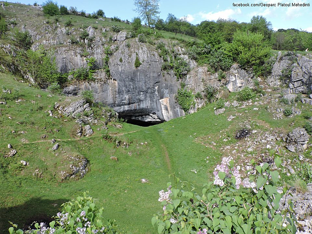
[[[159,11],[159,0],[135,0],[135,6],[137,9],[134,11],[139,14],[141,19],[143,19],[149,27],[155,25],[158,19],[157,15]]]

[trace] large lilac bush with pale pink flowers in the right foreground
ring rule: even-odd
[[[292,201],[277,212],[281,197],[288,193],[287,188],[281,193],[277,191],[278,171],[272,171],[268,163],[256,166],[252,161],[256,174],[242,180],[231,159],[224,157],[215,168],[214,182],[208,182],[200,190],[174,176],[174,183],[167,184],[168,191],[159,192],[162,214],[152,218],[159,234],[296,232]],[[279,157],[274,162],[279,168]]]

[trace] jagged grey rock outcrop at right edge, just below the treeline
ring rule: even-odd
[[[312,56],[295,55],[292,52],[282,56],[279,52],[272,75],[267,81],[271,86],[288,84],[290,92],[294,94],[312,90]]]

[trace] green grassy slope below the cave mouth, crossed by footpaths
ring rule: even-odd
[[[159,211],[158,191],[166,187],[168,175],[176,172],[181,179],[196,181],[201,185],[207,181],[207,172],[212,170],[213,165],[205,163],[204,158],[207,152],[214,152],[200,146],[201,150],[194,155],[198,143],[190,137],[195,132],[206,134],[217,131],[216,128],[209,130],[209,125],[207,128],[201,127],[201,121],[205,119],[201,115],[205,115],[205,112],[148,128],[126,123],[121,130],[110,126],[109,130],[119,134],[120,139],[133,141],[129,149],[114,148],[112,143],[101,138],[97,126],[93,127],[95,134],[92,137],[75,139],[72,137],[73,120],[49,117],[45,113],[53,109],[56,101],[66,97],[49,98],[48,93],[30,88],[4,74],[0,74],[0,86],[18,89],[19,98],[23,99],[20,102],[7,100],[6,105],[0,106],[0,122],[3,126],[0,131],[0,155],[9,152],[8,143],[18,151],[12,158],[0,158],[1,190],[5,191],[0,194],[1,232],[8,228],[7,220],[21,226],[29,217],[55,215],[62,202],[88,190],[90,195],[98,199],[98,204],[105,207],[104,215],[116,219],[122,230],[153,233],[150,220]],[[59,132],[55,129],[59,129]],[[12,130],[16,133],[12,134]],[[22,134],[21,131],[26,133]],[[47,140],[75,139],[57,141],[61,145],[60,151],[77,152],[87,157],[89,173],[78,181],[60,182],[55,179],[53,170],[58,171],[58,168],[54,164],[59,165],[60,159],[49,150],[52,144],[49,141],[31,143],[42,140],[42,135],[47,135]],[[30,143],[22,144],[23,138]],[[141,145],[141,142],[144,144]],[[166,154],[170,162],[166,160]],[[118,161],[111,160],[112,155],[117,156]],[[219,154],[215,155],[214,162],[219,157]],[[29,165],[21,167],[20,160],[26,160]],[[195,174],[191,172],[194,168],[201,169]],[[36,169],[42,172],[42,178],[33,176]],[[142,178],[148,179],[149,183],[141,183]]]

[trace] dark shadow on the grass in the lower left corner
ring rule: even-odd
[[[27,230],[35,221],[49,223],[52,216],[59,212],[60,205],[70,199],[49,200],[31,198],[19,206],[0,208],[0,233],[9,233],[9,221],[18,225],[18,228]]]

